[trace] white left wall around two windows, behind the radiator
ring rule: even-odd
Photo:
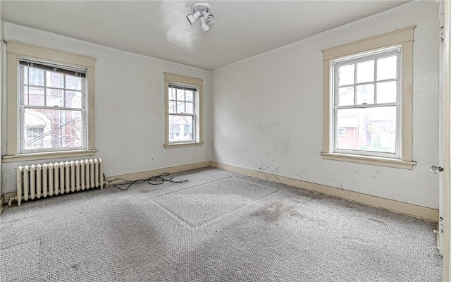
[[[210,159],[210,72],[96,44],[5,23],[6,40],[33,44],[96,58],[96,157],[104,160],[106,176],[195,164]],[[164,149],[163,72],[204,80],[202,147]],[[15,168],[6,164],[5,192],[16,191]],[[59,161],[59,159],[58,159]]]

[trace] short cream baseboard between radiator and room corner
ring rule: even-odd
[[[140,172],[136,172],[136,173],[128,173],[128,174],[122,174],[120,176],[109,176],[106,178],[106,181],[108,181],[108,184],[119,184],[119,183],[123,183],[125,182],[124,180],[115,180],[115,181],[111,181],[113,179],[116,178],[123,178],[126,181],[135,181],[135,180],[141,180],[141,179],[147,179],[150,178],[152,176],[159,176],[161,173],[177,173],[177,172],[181,172],[181,171],[190,171],[192,169],[196,169],[196,168],[204,168],[204,167],[209,167],[210,166],[210,161],[204,161],[202,163],[197,163],[197,164],[185,164],[182,166],[171,166],[171,167],[166,167],[166,168],[158,168],[158,169],[154,169],[152,171],[140,171]]]

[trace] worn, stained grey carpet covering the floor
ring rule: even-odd
[[[0,216],[1,281],[442,281],[434,223],[216,168]]]

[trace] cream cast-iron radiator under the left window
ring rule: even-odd
[[[17,168],[17,204],[69,192],[104,188],[101,159],[37,164]]]

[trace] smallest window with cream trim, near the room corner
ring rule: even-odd
[[[165,73],[168,147],[202,145],[202,80]]]

